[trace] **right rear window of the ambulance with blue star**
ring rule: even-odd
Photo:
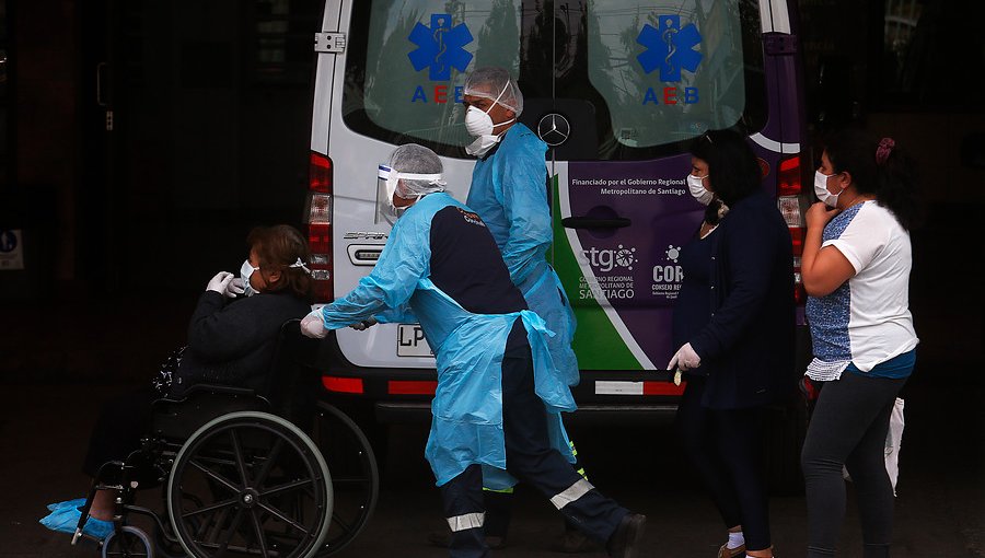
[[[686,141],[743,117],[746,79],[762,84],[762,46],[742,44],[743,24],[754,24],[748,35],[758,37],[758,12],[745,4],[688,0],[654,11],[647,9],[651,2],[590,3],[588,75],[609,108],[616,142]],[[753,104],[761,106],[762,97]]]

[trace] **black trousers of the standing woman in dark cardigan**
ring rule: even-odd
[[[742,525],[745,546],[769,548],[769,508],[763,478],[762,409],[702,406],[705,380],[690,379],[677,407],[677,431],[726,527]]]

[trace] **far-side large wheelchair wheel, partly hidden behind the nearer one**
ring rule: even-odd
[[[329,556],[366,527],[380,495],[380,475],[369,440],[345,412],[317,403],[312,439],[332,470],[332,526],[318,556]]]

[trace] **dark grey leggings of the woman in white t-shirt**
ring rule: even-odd
[[[801,453],[807,489],[808,557],[835,556],[845,520],[848,468],[858,500],[865,558],[889,556],[893,487],[885,472],[885,435],[906,379],[844,372],[824,382]]]

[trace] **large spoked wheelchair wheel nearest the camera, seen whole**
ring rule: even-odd
[[[198,429],[175,456],[167,512],[193,557],[308,558],[332,520],[332,478],[289,421],[239,411]]]

